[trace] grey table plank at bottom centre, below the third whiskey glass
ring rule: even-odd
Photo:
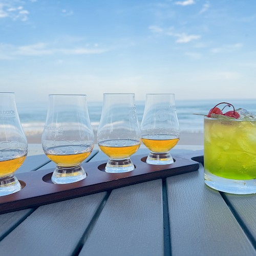
[[[112,190],[80,255],[163,255],[162,180]]]

